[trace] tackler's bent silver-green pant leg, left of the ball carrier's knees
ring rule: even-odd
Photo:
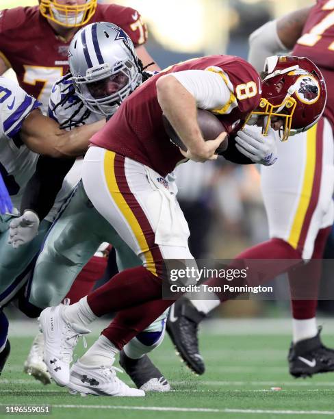
[[[97,251],[103,238],[114,231],[92,207],[81,183],[58,216],[38,256],[29,286],[29,303],[44,308],[59,304],[75,278]],[[90,275],[91,279],[93,278]],[[94,280],[98,279],[95,277]],[[91,283],[88,281],[88,288]],[[86,290],[86,288],[85,288]],[[82,296],[86,293],[82,294]]]

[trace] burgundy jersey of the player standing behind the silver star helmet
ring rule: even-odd
[[[120,26],[135,46],[146,42],[146,26],[131,8],[98,4],[88,23],[94,22]],[[21,88],[42,102],[44,110],[53,84],[68,71],[69,44],[55,34],[38,6],[0,11],[0,56],[15,71]]]

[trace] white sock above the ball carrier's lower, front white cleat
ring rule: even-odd
[[[112,366],[118,352],[116,346],[109,339],[100,335],[99,339],[80,358],[80,362],[87,366]]]

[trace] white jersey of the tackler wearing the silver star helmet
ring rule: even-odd
[[[86,105],[84,105],[81,99],[75,94],[72,79],[66,77],[66,75],[61,77],[53,85],[48,114],[60,124],[60,127],[67,130],[94,123],[104,118],[104,116],[94,114],[88,110]],[[83,157],[78,157],[75,164],[73,164],[73,167],[66,175],[62,184],[62,189],[58,192],[51,211],[47,217],[45,217],[45,219],[51,221],[51,223],[81,179],[83,160]]]

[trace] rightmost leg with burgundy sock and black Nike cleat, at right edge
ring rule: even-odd
[[[333,133],[326,119],[316,129],[314,160],[316,164],[311,198],[300,236],[295,235],[303,259],[311,257],[311,260],[289,274],[293,314],[289,365],[290,373],[295,377],[334,370],[334,353],[322,345],[316,325],[318,285],[322,270],[320,259],[333,224]],[[303,359],[300,360],[300,357]]]

